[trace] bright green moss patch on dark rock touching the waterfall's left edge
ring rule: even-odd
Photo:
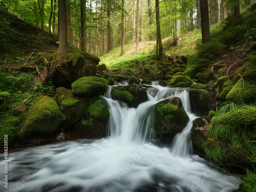
[[[88,112],[92,117],[108,119],[110,112],[108,109],[108,104],[103,99],[95,100],[92,98],[89,104]]]

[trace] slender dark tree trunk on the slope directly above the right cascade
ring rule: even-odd
[[[156,56],[161,59],[163,57],[163,45],[160,28],[159,0],[156,0],[156,22],[157,22],[157,49]]]

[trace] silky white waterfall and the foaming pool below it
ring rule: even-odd
[[[237,189],[237,178],[224,175],[192,155],[191,114],[186,89],[153,86],[149,101],[137,109],[105,98],[110,106],[109,133],[100,140],[67,141],[9,153],[8,190],[0,191],[191,191],[224,192]],[[180,97],[190,121],[173,144],[153,144],[154,104]],[[164,134],[164,133],[162,133]],[[1,159],[2,160],[2,159]],[[2,161],[3,162],[3,161]],[[4,166],[0,165],[4,170]],[[3,173],[0,174],[4,178]]]

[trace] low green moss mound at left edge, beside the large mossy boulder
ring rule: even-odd
[[[20,117],[8,117],[1,123],[0,129],[0,146],[4,146],[4,137],[8,135],[8,145],[10,146],[16,137],[17,126],[20,122]]]

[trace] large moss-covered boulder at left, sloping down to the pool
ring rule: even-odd
[[[62,117],[54,99],[48,96],[40,97],[20,123],[17,135],[19,138],[25,138],[32,134],[51,134],[57,131]]]

